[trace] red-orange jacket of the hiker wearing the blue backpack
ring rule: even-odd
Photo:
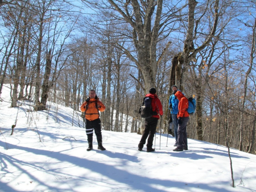
[[[175,96],[179,99],[179,105],[178,105],[178,114],[177,117],[189,117],[189,114],[187,113],[188,108],[188,100],[187,98],[181,93],[180,91],[177,91],[175,93]]]

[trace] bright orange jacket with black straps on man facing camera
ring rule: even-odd
[[[99,101],[98,98],[90,98],[89,102],[84,101],[80,106],[81,112],[86,112],[86,119],[88,119],[89,121],[93,121],[99,118],[99,111],[96,108],[96,102],[98,105],[98,110],[100,112],[105,111],[105,105],[101,101]]]

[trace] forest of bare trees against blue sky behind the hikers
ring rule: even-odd
[[[1,1],[0,16],[0,98],[10,84],[11,107],[79,111],[94,89],[104,130],[127,132],[131,116],[140,133],[138,109],[155,87],[166,133],[176,84],[197,100],[189,138],[256,154],[256,2]]]

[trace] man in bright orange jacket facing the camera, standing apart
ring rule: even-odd
[[[93,150],[93,130],[98,141],[98,150],[106,150],[102,146],[102,135],[101,135],[101,121],[99,118],[99,111],[105,111],[105,105],[99,101],[94,90],[90,90],[89,98],[82,103],[80,106],[81,112],[84,112],[86,117],[86,134],[88,141],[87,151]]]

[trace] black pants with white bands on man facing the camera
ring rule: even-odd
[[[87,140],[89,143],[93,142],[93,130],[95,132],[95,135],[97,137],[98,143],[102,143],[102,135],[101,135],[101,121],[100,119],[95,119],[93,121],[86,120],[86,134],[87,134]]]

